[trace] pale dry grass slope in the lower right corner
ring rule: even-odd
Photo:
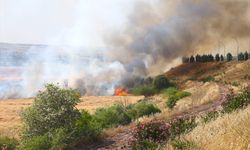
[[[185,138],[205,150],[249,150],[250,106],[199,125]]]

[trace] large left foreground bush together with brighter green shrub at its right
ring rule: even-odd
[[[22,149],[72,149],[78,142],[96,139],[102,128],[86,111],[76,109],[78,102],[75,90],[46,85],[22,113]]]

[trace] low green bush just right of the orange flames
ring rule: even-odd
[[[134,87],[129,90],[129,93],[133,95],[144,95],[144,96],[152,96],[157,93],[157,90],[152,86],[141,86]]]

